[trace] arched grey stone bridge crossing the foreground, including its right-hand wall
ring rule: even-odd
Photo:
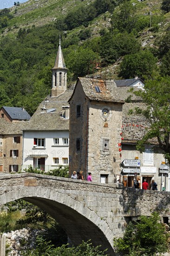
[[[92,240],[114,256],[113,238],[122,236],[127,223],[159,211],[170,221],[170,192],[122,188],[39,174],[0,176],[0,205],[24,199],[49,213],[73,244]]]

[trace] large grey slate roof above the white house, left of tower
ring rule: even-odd
[[[61,117],[61,113],[62,107],[68,105],[72,92],[73,90],[65,90],[57,97],[49,95],[45,101],[40,103],[25,130],[69,130],[69,119]],[[42,110],[44,107],[46,110]]]

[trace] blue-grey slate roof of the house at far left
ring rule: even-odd
[[[28,114],[28,112],[24,108],[15,108],[15,107],[5,107],[2,108],[5,109],[7,114],[13,119],[13,120],[29,120],[31,116]]]

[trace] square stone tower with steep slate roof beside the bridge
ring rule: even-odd
[[[70,102],[70,175],[92,173],[94,182],[120,175],[122,105],[114,81],[79,78]]]

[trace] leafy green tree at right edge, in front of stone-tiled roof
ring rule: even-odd
[[[137,149],[144,151],[144,144],[149,139],[157,138],[159,147],[163,149],[164,156],[170,163],[170,77],[156,77],[146,82],[145,91],[135,94],[141,96],[146,103],[145,110],[137,109],[137,113],[143,114],[150,122],[150,128],[141,141],[137,143]]]

